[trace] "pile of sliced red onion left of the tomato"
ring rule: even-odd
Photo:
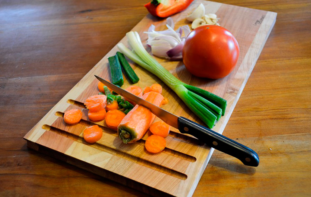
[[[174,21],[171,17],[166,19],[166,26],[168,29],[164,31],[155,31],[155,26],[151,25],[148,32],[144,32],[148,34],[147,46],[151,47],[154,56],[182,60],[183,44],[190,33],[190,28],[184,25],[174,31]]]

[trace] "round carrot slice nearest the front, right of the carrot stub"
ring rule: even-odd
[[[165,146],[165,139],[158,135],[149,136],[145,142],[146,150],[149,153],[160,153],[162,150],[164,150]]]

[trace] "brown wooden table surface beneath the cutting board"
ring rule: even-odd
[[[147,0],[0,0],[0,196],[145,196],[30,150],[23,136],[147,11]],[[219,1],[277,12],[223,132],[257,168],[215,151],[193,196],[311,195],[311,3]]]

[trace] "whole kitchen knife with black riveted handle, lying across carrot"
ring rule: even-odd
[[[177,128],[181,133],[187,133],[198,140],[207,144],[207,146],[211,146],[212,148],[219,150],[225,154],[229,154],[237,159],[239,159],[244,165],[257,167],[259,164],[258,154],[252,149],[229,139],[209,128],[206,128],[196,122],[193,122],[187,118],[176,116],[162,108],[151,104],[148,101],[143,100],[142,98],[133,95],[130,92],[115,86],[112,83],[104,80],[95,75],[95,77],[102,83],[104,83],[107,87],[112,89],[114,92],[117,92],[119,95],[127,98],[130,101],[137,103],[138,105],[142,105],[148,108],[153,114],[163,120],[165,123],[170,126]]]

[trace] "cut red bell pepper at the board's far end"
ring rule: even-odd
[[[165,18],[186,9],[193,0],[152,0],[145,7],[153,16]]]

